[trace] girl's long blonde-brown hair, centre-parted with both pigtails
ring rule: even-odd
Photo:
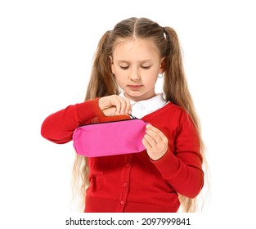
[[[191,94],[187,87],[183,70],[181,47],[177,34],[172,28],[161,27],[156,22],[146,18],[132,17],[120,21],[115,25],[113,30],[107,31],[98,43],[85,101],[97,97],[119,94],[118,84],[115,82],[115,78],[112,76],[110,69],[110,56],[113,53],[118,38],[150,38],[155,43],[156,47],[158,47],[160,57],[165,58],[165,99],[166,101],[172,101],[177,106],[181,106],[191,116],[198,136],[200,137],[200,153],[205,162],[204,144],[200,134],[200,123],[195,112]],[[89,185],[88,159],[76,155],[73,172],[74,191],[79,190],[84,205],[85,191]],[[190,199],[186,196],[179,195],[179,200],[182,204],[182,211],[195,212],[196,198]]]

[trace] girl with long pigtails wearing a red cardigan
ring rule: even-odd
[[[155,94],[159,77],[163,94]],[[150,123],[142,140],[146,150],[76,155],[74,177],[80,178],[84,212],[177,212],[181,204],[183,211],[195,211],[204,155],[181,48],[172,28],[146,18],[122,20],[103,35],[85,101],[49,115],[41,133],[62,144],[83,124],[124,115]]]

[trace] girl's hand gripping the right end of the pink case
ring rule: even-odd
[[[164,133],[151,125],[146,125],[146,134],[142,140],[150,159],[157,160],[168,150],[168,139]]]

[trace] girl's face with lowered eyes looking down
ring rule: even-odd
[[[158,74],[164,73],[164,58],[150,39],[120,39],[111,58],[111,70],[124,95],[132,101],[155,97]]]

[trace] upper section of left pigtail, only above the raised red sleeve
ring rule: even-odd
[[[107,31],[98,43],[92,64],[91,79],[88,83],[85,97],[86,101],[118,93],[118,86],[110,68],[110,34],[111,31]]]

